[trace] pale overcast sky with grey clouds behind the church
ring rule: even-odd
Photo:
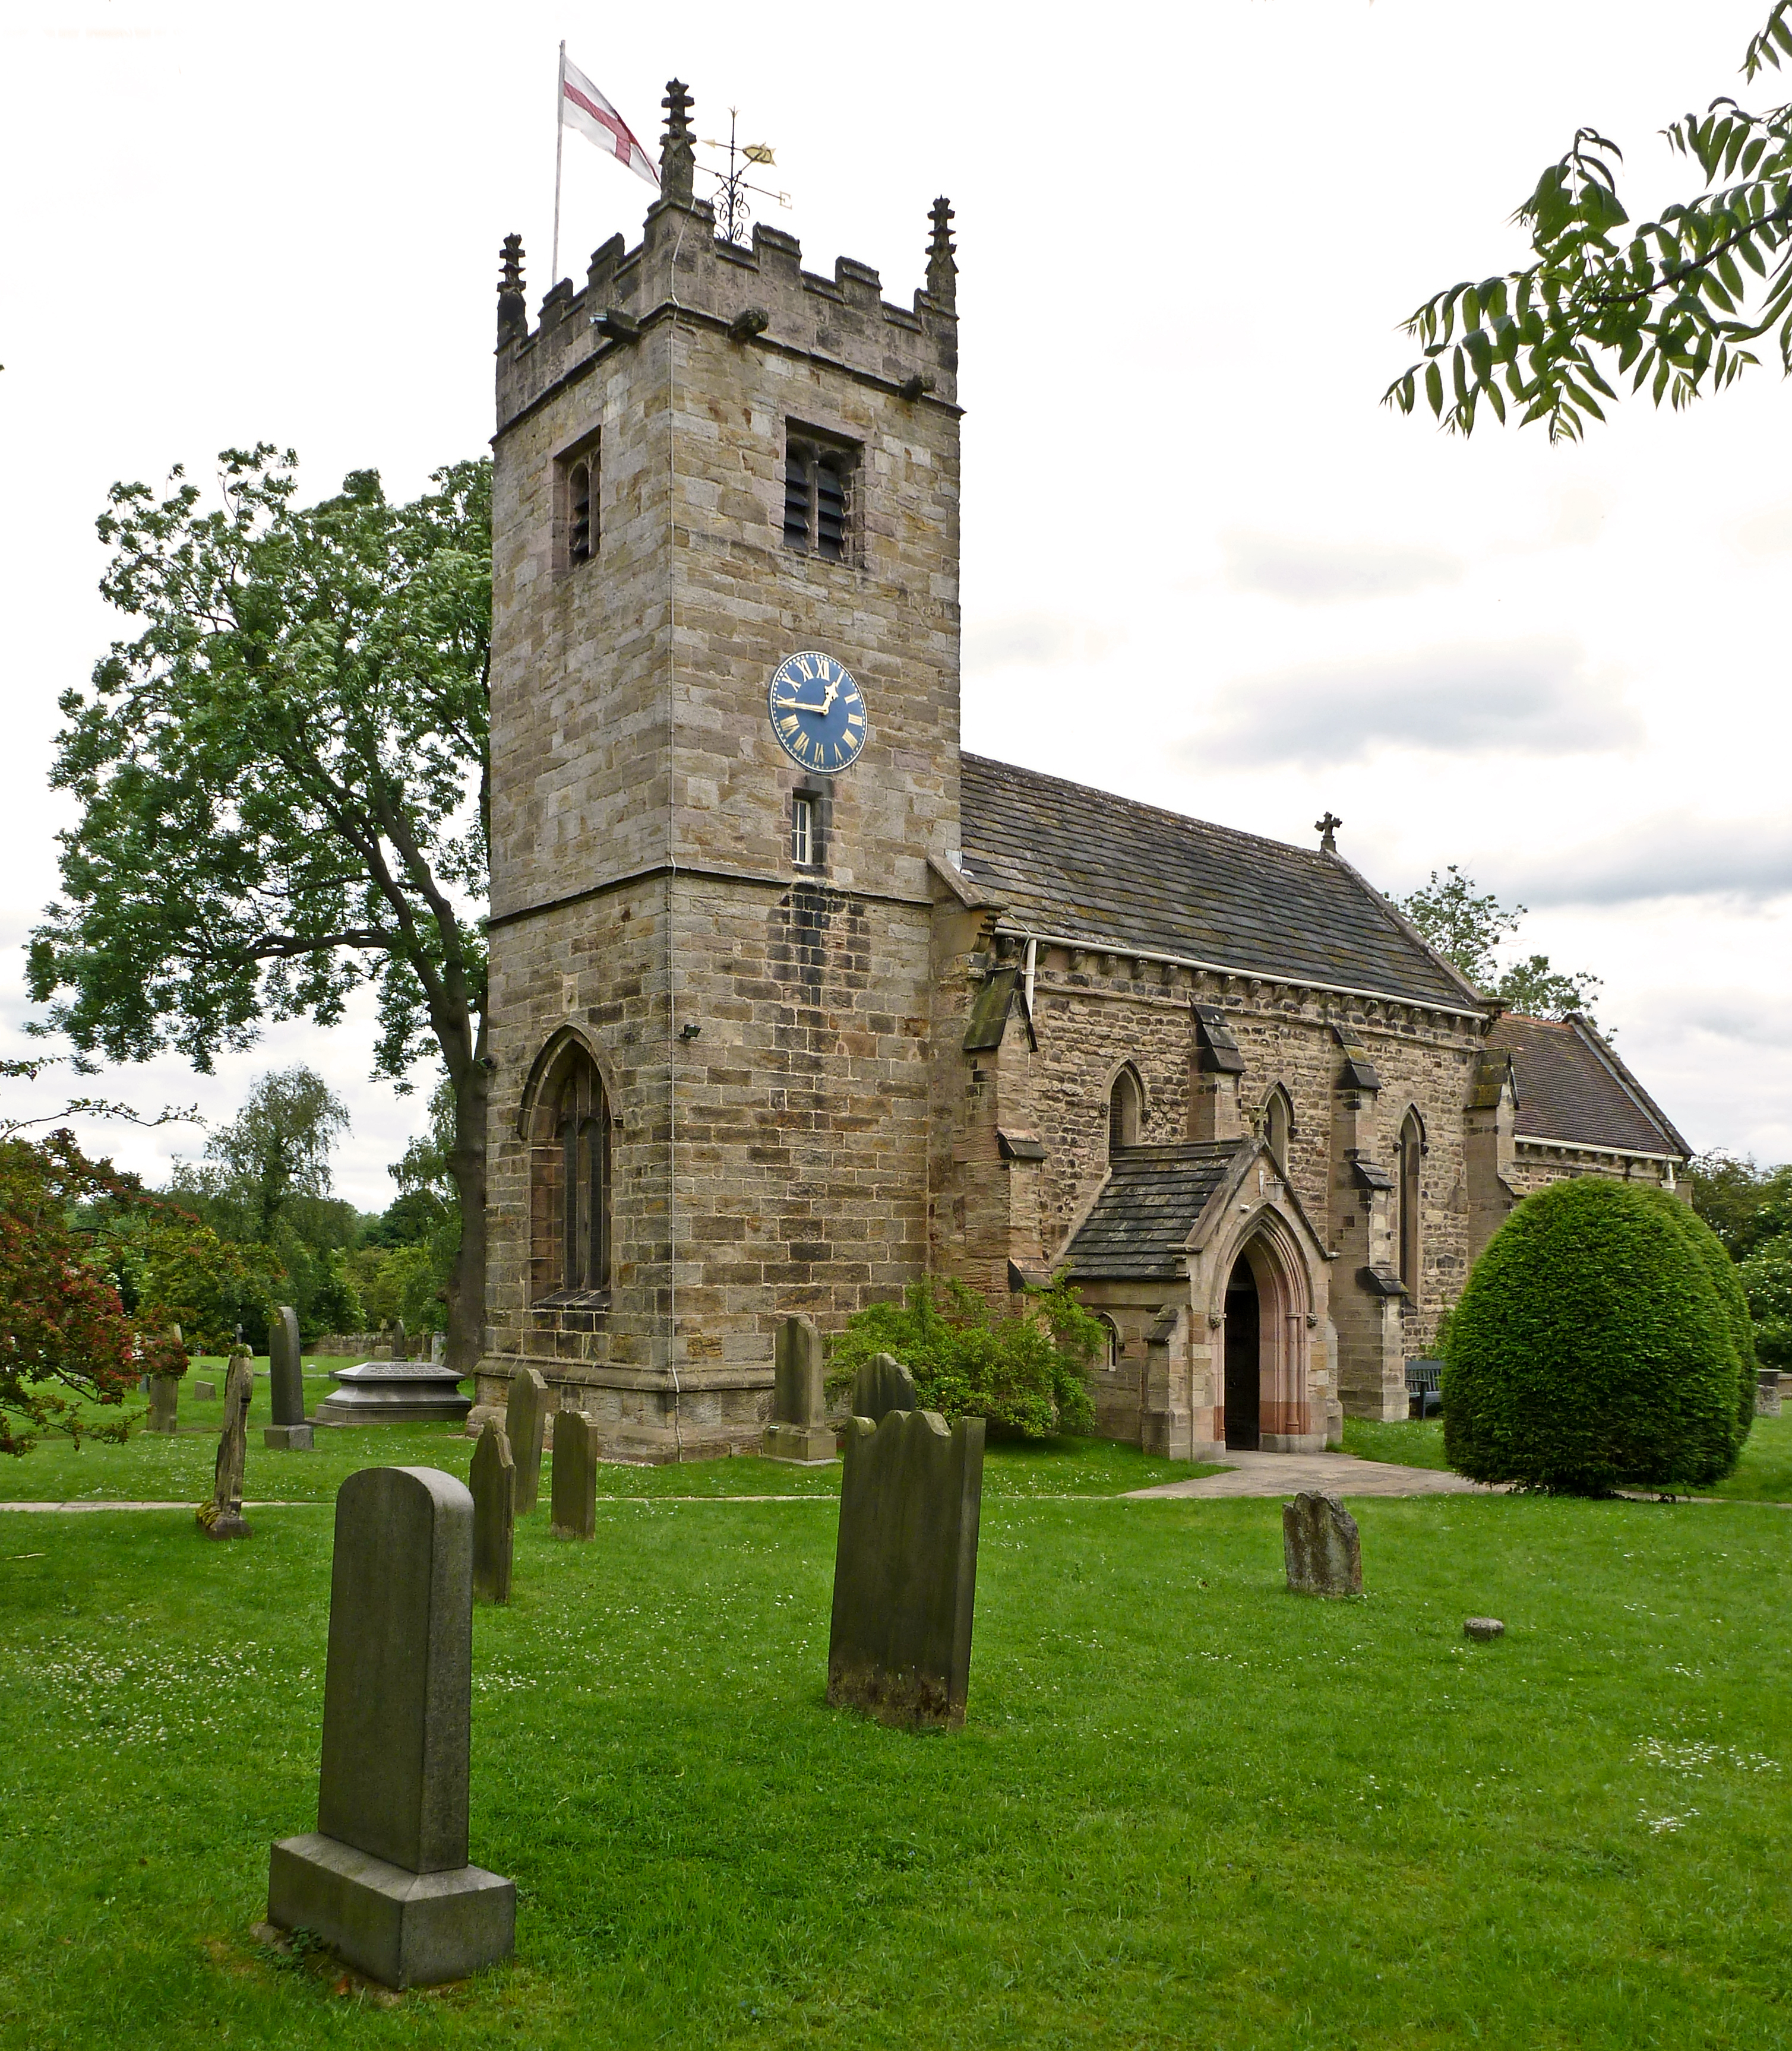
[[[554,55],[645,142],[778,152],[809,269],[905,301],[959,209],[965,742],[1295,843],[1324,808],[1377,884],[1464,863],[1696,1147],[1792,1157],[1792,392],[1620,408],[1585,447],[1447,439],[1377,404],[1400,318],[1519,260],[1513,207],[1593,123],[1628,195],[1685,189],[1659,129],[1718,92],[1765,0],[1180,6],[294,8],[55,0],[0,18],[0,1052],[55,890],[57,691],[117,632],[92,535],[115,478],[255,439],[310,496],[392,492],[491,433],[499,240],[548,277]],[[560,269],[649,191],[567,137]],[[347,1097],[339,1190],[392,1196],[421,1095],[363,1017],[269,1032],[211,1079],[103,1085],[228,1118],[296,1058]],[[92,1132],[160,1175],[203,1132]]]

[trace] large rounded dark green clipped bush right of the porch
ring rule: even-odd
[[[1753,1417],[1747,1306],[1722,1245],[1663,1190],[1599,1175],[1519,1204],[1443,1352],[1443,1446],[1472,1481],[1704,1487],[1737,1464]]]

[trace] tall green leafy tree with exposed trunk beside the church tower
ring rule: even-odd
[[[101,582],[140,621],[62,699],[62,898],[33,935],[45,1030],[207,1071],[265,1019],[378,987],[376,1071],[433,1048],[462,1235],[450,1362],[484,1323],[491,466],[388,502],[372,470],[296,505],[291,453],[228,449],[224,505],[117,484]]]

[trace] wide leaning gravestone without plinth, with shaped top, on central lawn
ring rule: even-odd
[[[827,1700],[879,1723],[957,1729],[971,1684],[983,1419],[850,1417],[833,1553]]]

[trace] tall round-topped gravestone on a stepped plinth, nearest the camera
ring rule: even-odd
[[[472,1528],[472,1495],[433,1466],[337,1491],[318,1827],[273,1846],[267,1920],[388,1987],[515,1946],[515,1883],[466,1862]]]

